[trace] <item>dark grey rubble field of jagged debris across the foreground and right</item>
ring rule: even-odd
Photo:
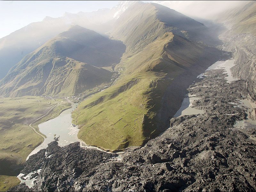
[[[121,160],[78,142],[61,148],[53,141],[21,171],[42,169],[34,187],[9,191],[255,191],[256,141],[234,126],[247,118],[247,108],[232,104],[248,92],[244,81],[228,84],[222,72],[207,71],[188,89],[201,98],[193,105],[204,114],[172,118],[162,135],[128,148]]]

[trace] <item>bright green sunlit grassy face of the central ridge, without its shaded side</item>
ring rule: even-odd
[[[74,123],[81,127],[79,138],[87,144],[111,150],[122,149],[129,145],[141,145],[144,142],[148,137],[148,130],[145,133],[142,129],[142,121],[149,109],[148,102],[151,99],[148,95],[157,79],[164,77],[164,73],[156,74],[148,70],[148,65],[153,60],[156,61],[154,62],[156,65],[159,63],[159,54],[164,44],[171,41],[172,37],[171,33],[166,34],[146,46],[142,53],[126,58],[124,62],[131,64],[129,65],[131,73],[125,73],[116,85],[84,100],[78,106],[72,115]],[[151,55],[154,56],[148,62],[139,62],[147,60]],[[137,70],[132,73],[134,68]]]

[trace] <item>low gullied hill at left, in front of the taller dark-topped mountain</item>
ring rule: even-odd
[[[45,59],[20,71],[8,83],[4,84],[5,79],[12,73],[2,80],[4,96],[71,96],[108,82],[112,75],[110,71],[68,57]]]

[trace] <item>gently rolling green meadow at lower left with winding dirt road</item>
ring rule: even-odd
[[[7,190],[17,184],[13,176],[19,174],[29,153],[43,142],[42,136],[36,134],[29,124],[45,115],[58,101],[62,100],[54,101],[35,96],[0,99],[1,190]],[[53,115],[58,116],[62,110],[67,108],[70,108],[70,103],[63,100],[47,116],[36,121],[33,127],[38,130],[38,124]]]

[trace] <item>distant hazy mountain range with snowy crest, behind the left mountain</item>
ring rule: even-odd
[[[71,25],[79,25],[104,34],[113,22],[136,1],[121,1],[111,9],[94,12],[65,13],[62,17],[45,17],[0,39],[0,79],[25,55],[33,52],[49,39],[66,31]]]

